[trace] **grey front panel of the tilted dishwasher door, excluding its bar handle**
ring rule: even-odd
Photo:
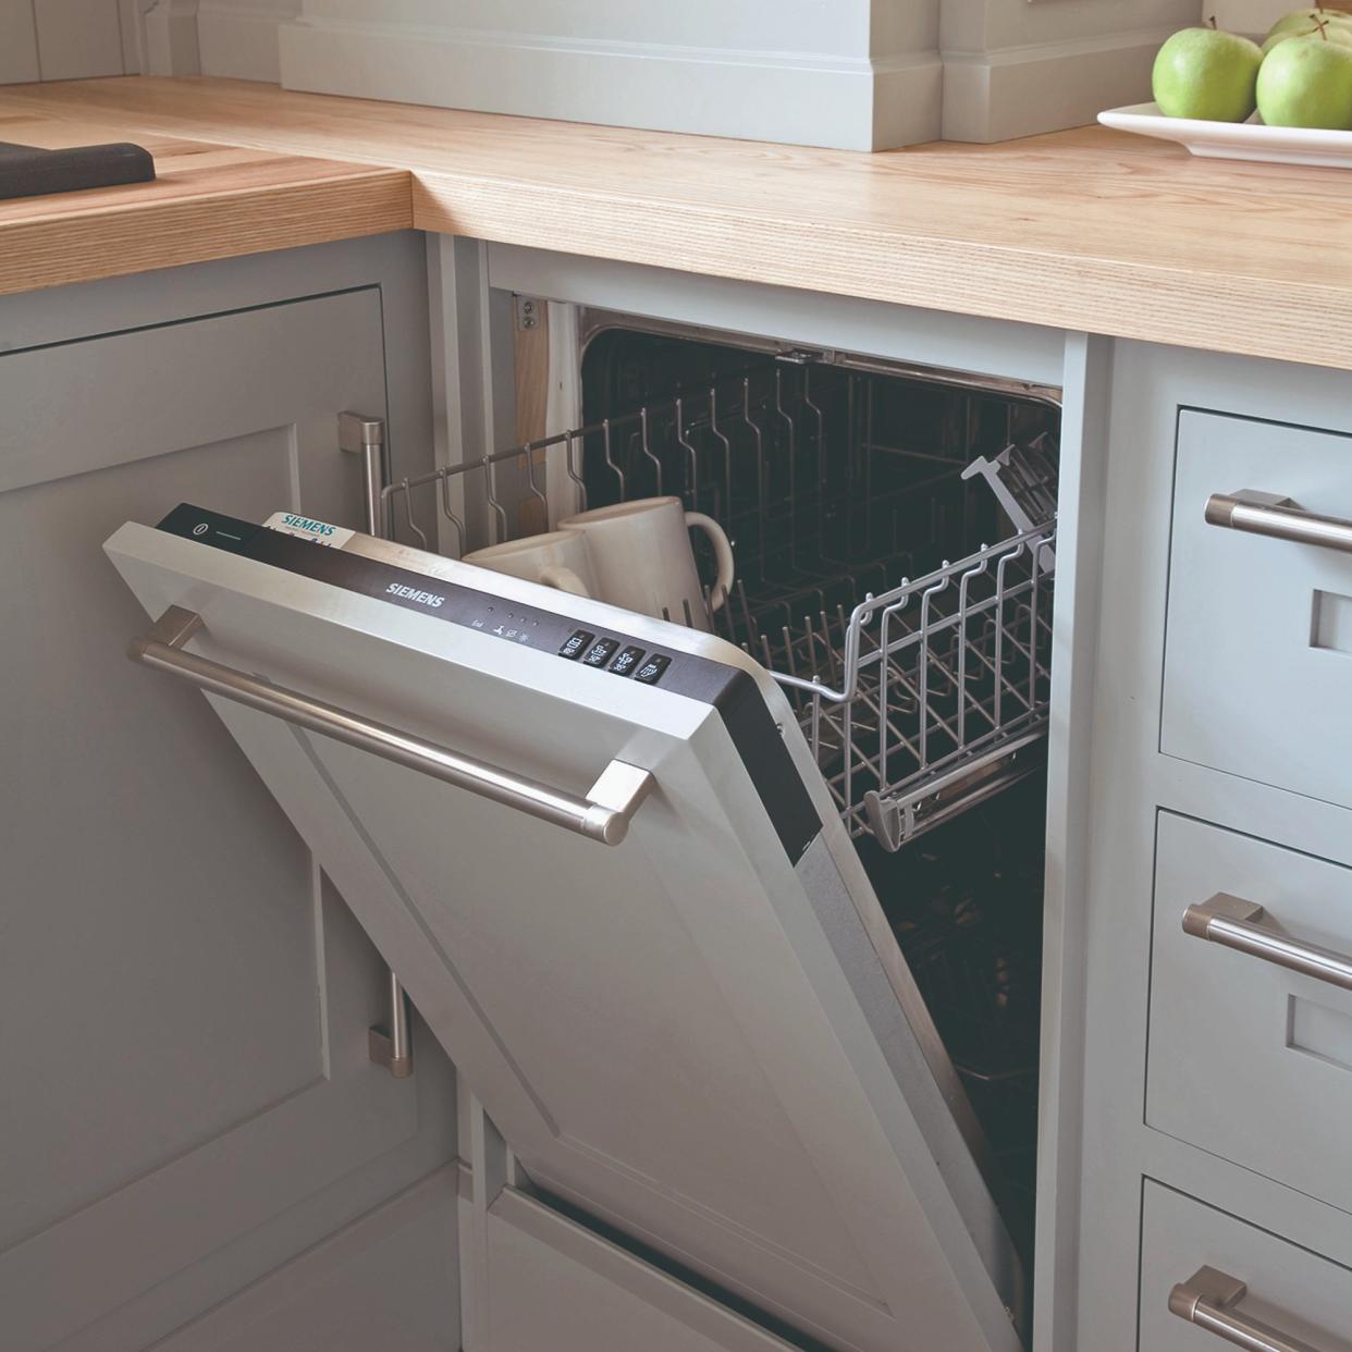
[[[204,615],[204,656],[571,792],[654,775],[607,848],[218,702],[537,1182],[841,1345],[1018,1347],[975,1164],[713,706],[145,527],[108,552],[149,612]]]

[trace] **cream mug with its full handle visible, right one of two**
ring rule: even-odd
[[[679,498],[642,498],[596,507],[558,523],[560,530],[587,535],[600,599],[677,625],[708,629],[704,591],[695,571],[691,527],[704,531],[714,546],[718,580],[710,606],[718,610],[733,585],[733,546],[723,527],[703,512],[685,511]]]

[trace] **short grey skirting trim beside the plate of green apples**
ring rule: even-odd
[[[1172,28],[975,55],[944,55],[944,139],[990,143],[1094,122],[1151,96],[1151,66]]]

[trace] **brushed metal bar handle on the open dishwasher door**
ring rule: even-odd
[[[274,714],[288,723],[308,727],[606,845],[618,845],[625,838],[634,813],[652,791],[653,776],[623,761],[611,761],[585,798],[523,779],[337,704],[326,704],[260,676],[249,676],[223,662],[184,652],[183,645],[201,627],[199,614],[170,606],[149,634],[130,642],[127,656],[145,667],[180,676],[212,695]]]

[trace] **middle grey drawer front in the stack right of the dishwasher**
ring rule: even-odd
[[[1263,911],[1186,933],[1218,894]],[[1352,1211],[1352,991],[1220,941],[1265,936],[1352,964],[1352,871],[1161,813],[1146,1122]]]

